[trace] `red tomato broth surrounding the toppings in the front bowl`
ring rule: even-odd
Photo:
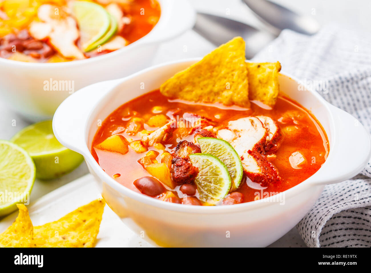
[[[255,187],[259,184],[253,183],[255,186],[251,188],[249,175],[244,175],[239,188],[232,188],[229,195],[217,205],[250,202],[292,188],[321,168],[329,152],[328,139],[321,124],[308,110],[289,98],[279,96],[273,110],[264,109],[254,103],[251,104],[251,109],[246,110],[239,107],[226,107],[221,104],[197,104],[169,100],[159,90],[155,90],[123,104],[104,120],[93,139],[92,155],[109,176],[133,191],[147,193],[153,198],[168,202],[205,205],[198,199],[197,187],[194,183],[177,184],[174,188],[164,185],[163,190],[155,188],[154,192],[149,194],[144,192],[142,188],[148,182],[147,180],[142,181],[141,185],[138,185],[138,182],[134,185],[134,181],[137,179],[152,177],[141,162],[141,159],[146,155],[150,155],[155,162],[164,162],[170,173],[174,175],[172,170],[174,166],[172,167],[171,160],[168,160],[169,154],[171,158],[177,144],[182,140],[197,144],[194,136],[200,128],[188,128],[189,135],[181,133],[181,129],[177,128],[165,143],[149,146],[146,148],[148,150],[143,152],[140,150],[136,152],[130,145],[127,148],[124,147],[121,153],[109,148],[97,147],[113,135],[120,136],[123,143],[126,143],[125,145],[140,141],[144,134],[155,131],[171,118],[178,120],[179,117],[187,116],[190,113],[210,122],[212,126],[206,128],[213,127],[214,133],[218,129],[225,128],[229,121],[250,116],[266,116],[275,121],[281,135],[280,142],[275,149],[264,153],[264,157],[273,166],[272,168],[277,170],[280,180],[267,183],[264,185],[265,189],[260,191]],[[154,116],[157,118],[152,118]],[[153,120],[155,120],[155,124],[153,124]],[[158,123],[159,120],[162,123]],[[137,127],[135,127],[135,122],[137,122]],[[250,184],[246,182],[247,179]],[[188,195],[186,200],[183,198],[184,192]]]

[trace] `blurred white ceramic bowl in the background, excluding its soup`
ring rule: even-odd
[[[151,65],[160,42],[190,29],[195,12],[187,0],[158,0],[161,16],[143,38],[117,51],[65,63],[26,63],[0,58],[0,94],[9,106],[29,120],[51,118],[72,88],[50,90],[45,81],[69,81],[73,90],[99,81],[117,79]],[[45,90],[46,89],[46,90]],[[64,89],[64,90],[63,90]],[[68,90],[66,90],[68,89]]]

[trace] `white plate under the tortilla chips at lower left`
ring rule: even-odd
[[[58,220],[76,208],[101,198],[92,175],[72,181],[27,206],[32,224]],[[0,233],[16,219],[18,211],[0,221]],[[108,205],[104,208],[95,247],[154,247],[131,231]]]

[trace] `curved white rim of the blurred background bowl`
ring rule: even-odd
[[[104,59],[108,59],[108,58],[115,58],[115,56],[124,54],[125,52],[131,50],[132,48],[159,42],[161,40],[161,35],[159,34],[161,31],[161,28],[159,25],[160,23],[161,24],[165,23],[168,17],[170,17],[172,6],[171,5],[167,6],[165,4],[165,3],[169,3],[169,1],[167,0],[156,0],[156,1],[160,4],[160,7],[161,7],[160,19],[158,20],[156,25],[150,30],[150,32],[148,32],[142,38],[139,38],[135,42],[132,42],[131,44],[124,46],[123,48],[117,49],[112,52],[108,52],[106,54],[95,56],[92,58],[87,58],[83,60],[74,60],[70,62],[56,62],[56,63],[21,62],[21,61],[14,61],[14,60],[9,60],[9,59],[0,57],[0,64],[3,63],[4,65],[15,66],[16,68],[33,68],[33,69],[69,68],[71,66],[86,65],[91,62],[98,62],[98,61],[104,61]],[[151,38],[155,38],[155,39],[151,39]]]

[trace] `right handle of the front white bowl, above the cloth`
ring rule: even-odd
[[[324,168],[312,176],[312,183],[317,185],[338,183],[352,178],[361,172],[371,157],[370,134],[363,125],[351,114],[333,105],[329,105],[329,108],[335,123],[334,144]],[[318,181],[314,177],[321,177],[321,180]]]

